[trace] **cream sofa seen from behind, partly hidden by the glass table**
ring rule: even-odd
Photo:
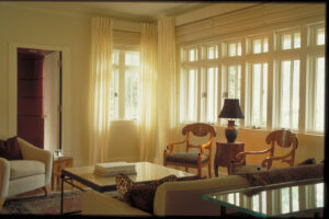
[[[314,170],[306,170],[308,169]],[[288,180],[292,171],[299,174],[293,174],[295,180],[303,180],[308,174],[308,178],[322,177],[324,164],[293,166],[282,170],[275,170],[273,180],[266,176],[265,180],[279,183],[281,174],[285,174]],[[303,170],[302,170],[303,169]],[[302,172],[300,172],[302,170]],[[272,170],[268,171],[271,172]],[[274,171],[274,170],[273,170]],[[280,172],[281,171],[281,172]],[[303,173],[303,171],[307,173]],[[254,186],[254,183],[248,175],[228,175],[215,178],[205,178],[196,181],[180,181],[161,184],[157,191],[154,200],[155,216],[219,216],[220,207],[217,204],[202,199],[202,195],[215,192]],[[254,180],[254,178],[253,178]],[[262,182],[263,183],[263,182]],[[227,214],[231,210],[227,209]],[[107,215],[107,216],[151,216],[146,211],[132,207],[127,203],[117,198],[110,197],[95,191],[86,192],[82,195],[82,215]]]

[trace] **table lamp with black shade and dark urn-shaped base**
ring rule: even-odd
[[[238,136],[238,129],[232,118],[245,118],[239,105],[239,99],[225,99],[223,110],[218,117],[228,118],[225,136],[227,142],[235,142]]]

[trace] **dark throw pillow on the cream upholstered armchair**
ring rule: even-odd
[[[18,142],[18,137],[12,137],[5,141],[0,140],[0,157],[7,160],[22,160],[21,147]]]

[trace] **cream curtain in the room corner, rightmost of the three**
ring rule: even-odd
[[[175,71],[174,18],[158,21],[158,143],[156,158],[162,161],[166,146],[178,137],[178,76]]]

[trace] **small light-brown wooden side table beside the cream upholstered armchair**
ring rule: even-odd
[[[53,160],[53,175],[52,175],[52,188],[54,189],[54,183],[56,181],[56,187],[60,185],[61,170],[65,168],[72,168],[73,159],[70,157],[58,157]]]

